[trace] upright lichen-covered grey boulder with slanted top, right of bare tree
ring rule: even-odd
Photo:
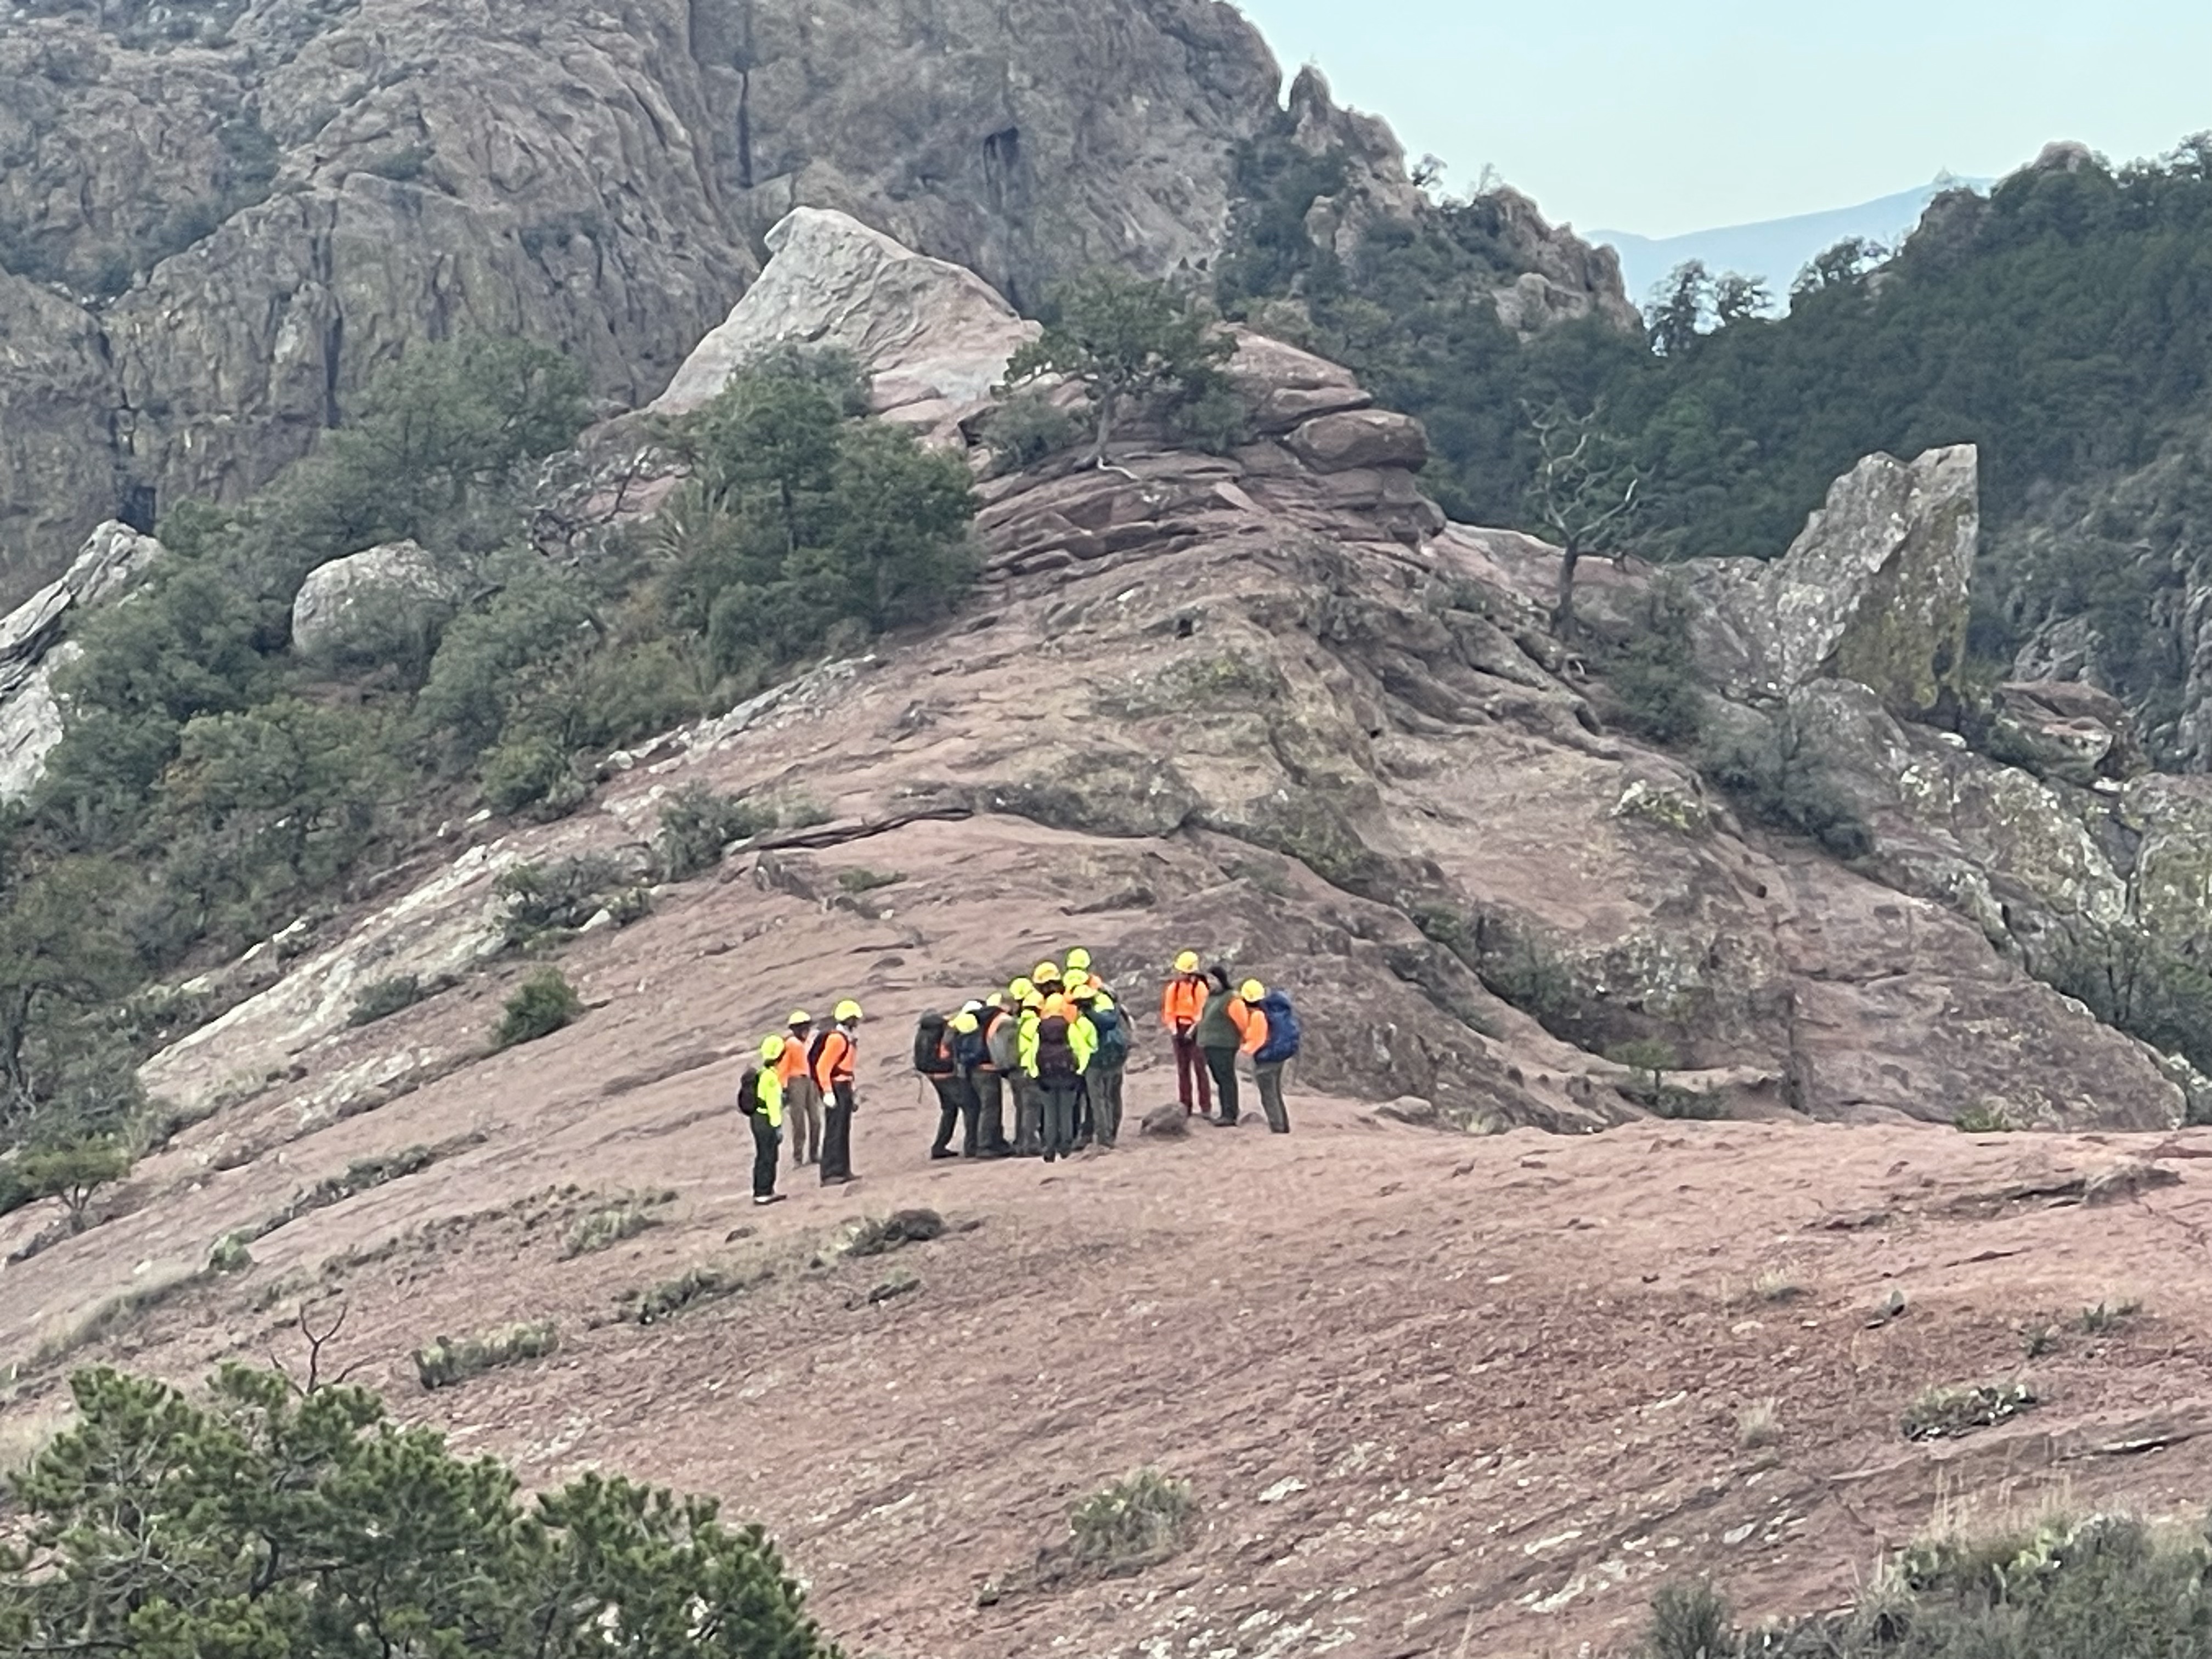
[[[1683,566],[1712,677],[1745,699],[1836,677],[1900,714],[1933,710],[1966,668],[1975,473],[1971,445],[1913,462],[1869,456],[1836,480],[1781,560]]]

